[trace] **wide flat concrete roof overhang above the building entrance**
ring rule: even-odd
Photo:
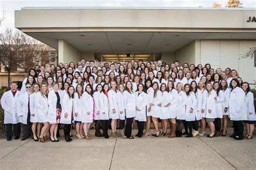
[[[24,8],[15,27],[58,49],[81,52],[175,52],[196,39],[255,40],[255,9]]]

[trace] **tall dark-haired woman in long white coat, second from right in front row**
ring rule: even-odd
[[[231,93],[229,99],[230,120],[233,121],[234,133],[230,136],[234,139],[244,139],[244,125],[242,121],[247,121],[246,96],[244,90],[240,88],[239,81],[232,79],[230,83]]]

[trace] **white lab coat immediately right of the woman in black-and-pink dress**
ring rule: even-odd
[[[73,98],[70,98],[68,94],[65,94],[62,100],[62,114],[60,115],[59,123],[71,124],[71,117],[73,112]],[[65,113],[68,117],[65,118]]]

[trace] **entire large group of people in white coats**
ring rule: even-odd
[[[132,60],[121,65],[82,59],[77,69],[73,62],[36,66],[21,91],[17,82],[10,87],[1,98],[8,141],[13,133],[19,139],[22,126],[22,140],[56,142],[63,128],[69,142],[72,124],[77,138],[90,140],[93,122],[96,137],[109,138],[111,129],[114,138],[134,139],[132,125],[137,137],[148,137],[153,123],[154,137],[204,136],[208,125],[207,137],[213,138],[226,136],[228,118],[234,128],[230,137],[240,140],[253,138],[256,121],[249,84],[236,70],[217,68],[214,73],[210,64]]]

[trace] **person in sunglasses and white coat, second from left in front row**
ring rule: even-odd
[[[16,104],[17,110],[21,110],[17,112],[19,122],[22,123],[23,137],[21,140],[25,140],[32,135],[32,124],[30,122],[30,95],[32,94],[32,85],[30,83],[26,83],[25,89],[26,92],[19,95]]]

